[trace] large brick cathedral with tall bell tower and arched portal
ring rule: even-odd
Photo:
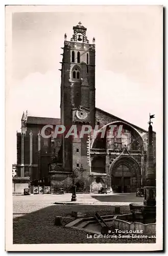
[[[52,193],[61,187],[68,192],[74,184],[77,191],[88,193],[100,187],[109,193],[134,192],[145,184],[148,131],[95,107],[95,38],[90,44],[81,23],[73,31],[70,40],[64,35],[61,54],[61,118],[23,112],[17,132],[17,176],[30,177],[32,184],[50,184]],[[78,136],[54,136],[56,128],[68,130],[72,125]],[[82,137],[84,125],[100,132]],[[108,136],[111,127],[113,134]],[[153,132],[154,163],[155,144]]]

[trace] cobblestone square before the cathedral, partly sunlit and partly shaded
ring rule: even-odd
[[[71,195],[13,196],[13,243],[14,244],[61,244],[61,243],[154,243],[154,239],[89,239],[87,232],[64,227],[73,220],[71,211],[85,216],[111,214],[115,205],[121,205],[121,212],[129,212],[129,203],[142,202],[132,194],[92,195],[77,194],[77,203],[85,205],[56,205],[54,202],[69,201]],[[119,202],[120,201],[120,202]],[[90,203],[90,204],[88,204]],[[63,225],[55,226],[56,216],[63,217]]]

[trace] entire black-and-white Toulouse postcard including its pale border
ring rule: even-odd
[[[6,250],[162,250],[162,51],[161,5],[6,6]]]

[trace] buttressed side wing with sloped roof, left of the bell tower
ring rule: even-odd
[[[52,138],[43,138],[41,130],[46,124],[53,125],[53,129],[46,129],[45,134],[55,130],[60,124],[57,118],[41,118],[25,116],[21,120],[21,133],[17,136],[17,165],[16,174],[21,177],[30,177],[30,180],[44,178],[49,175],[49,163],[55,152],[60,151],[61,141],[56,139],[54,145]],[[59,154],[58,154],[59,155]]]

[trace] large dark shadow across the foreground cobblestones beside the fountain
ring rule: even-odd
[[[88,239],[87,232],[78,229],[55,226],[55,217],[66,217],[63,224],[74,220],[71,211],[78,211],[86,216],[93,216],[95,212],[100,215],[112,214],[111,205],[52,205],[40,210],[24,214],[13,219],[14,244],[57,244],[57,243],[118,243],[114,240]],[[121,206],[121,211],[129,212],[129,206]],[[19,214],[20,210],[19,210]],[[14,216],[18,215],[17,212]],[[119,243],[125,243],[119,241]]]

